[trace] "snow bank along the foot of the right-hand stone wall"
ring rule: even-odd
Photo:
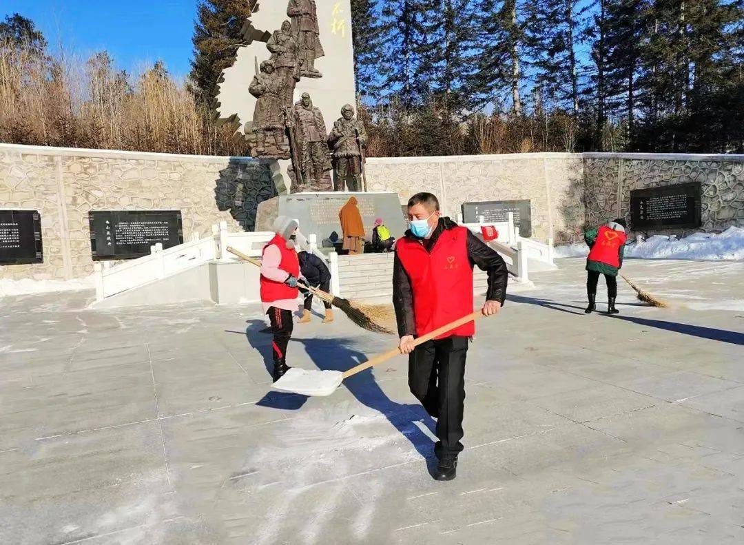
[[[584,243],[556,246],[559,258],[586,257]],[[724,232],[695,233],[678,239],[675,235],[654,235],[641,243],[632,241],[625,247],[627,258],[644,259],[731,259],[744,260],[744,228],[729,227]]]

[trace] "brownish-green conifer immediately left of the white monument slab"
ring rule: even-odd
[[[194,22],[190,77],[202,99],[215,97],[222,71],[243,44],[240,31],[257,0],[199,0]]]

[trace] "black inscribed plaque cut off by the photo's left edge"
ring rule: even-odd
[[[0,265],[43,263],[42,218],[36,210],[0,210]]]

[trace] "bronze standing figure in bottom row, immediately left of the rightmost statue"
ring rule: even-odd
[[[294,112],[303,182],[295,180],[292,193],[332,191],[333,182],[328,172],[333,170],[333,165],[323,113],[312,105],[309,93],[302,94],[300,101],[295,103]]]

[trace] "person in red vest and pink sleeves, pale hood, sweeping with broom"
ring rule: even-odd
[[[298,223],[286,216],[274,222],[275,237],[263,248],[261,256],[261,302],[272,324],[274,382],[289,371],[286,347],[292,337],[292,313],[297,310],[297,283],[300,261],[295,251]]]

